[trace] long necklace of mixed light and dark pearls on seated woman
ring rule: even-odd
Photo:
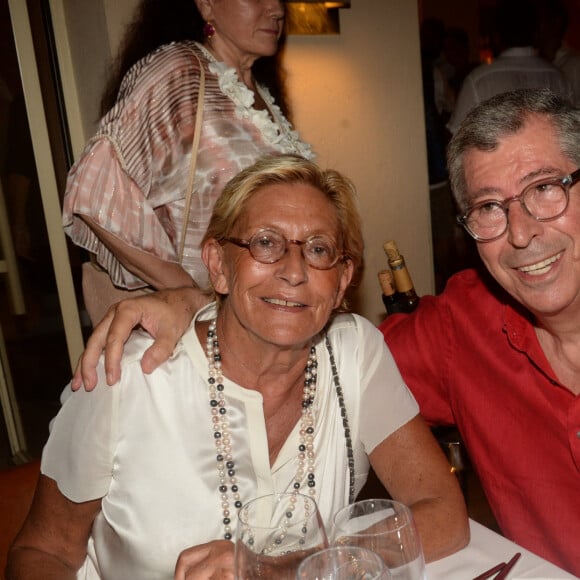
[[[229,432],[227,401],[225,398],[224,377],[222,374],[221,353],[216,332],[216,320],[210,322],[206,339],[206,356],[208,364],[209,404],[211,408],[213,437],[216,447],[216,465],[218,471],[218,490],[221,497],[224,525],[224,538],[232,539],[232,512],[242,507],[241,495],[236,478],[236,463],[232,453],[232,439]],[[292,487],[298,493],[306,476],[308,494],[316,495],[316,478],[314,475],[314,413],[312,403],[316,396],[318,361],[314,345],[310,347],[308,362],[304,369],[304,389],[302,393],[302,415],[300,417],[300,437],[298,444],[298,468]]]

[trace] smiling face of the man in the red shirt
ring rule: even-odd
[[[531,116],[495,151],[467,152],[464,167],[470,205],[507,199],[533,181],[577,169],[563,155],[552,125],[540,116]],[[571,188],[568,209],[558,219],[539,222],[517,201],[508,215],[502,237],[477,244],[492,276],[537,317],[579,308],[580,185]]]

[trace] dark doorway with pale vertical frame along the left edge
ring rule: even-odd
[[[0,39],[0,467],[5,467],[40,456],[83,339],[73,280],[81,257],[67,245],[60,223],[72,155],[48,0],[0,0]]]

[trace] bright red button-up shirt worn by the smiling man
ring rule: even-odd
[[[503,533],[580,576],[580,396],[529,315],[466,270],[380,329],[423,416],[459,428]]]

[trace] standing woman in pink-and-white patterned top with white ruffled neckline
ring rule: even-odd
[[[64,200],[65,232],[115,286],[194,286],[202,306],[208,278],[199,246],[223,186],[266,153],[311,157],[282,112],[275,57],[283,25],[281,0],[142,0],[104,117],[69,174]]]

